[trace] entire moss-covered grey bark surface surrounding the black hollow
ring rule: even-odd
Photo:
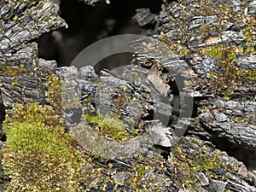
[[[57,11],[53,1],[0,3],[0,89],[9,108],[3,125],[7,142],[0,155],[5,171],[0,170],[0,190],[5,186],[8,191],[256,191],[255,173],[215,146],[225,142],[256,159],[255,1],[164,3],[158,16],[160,32],[154,36],[164,48],[152,49],[154,42],[143,39],[134,42],[133,67],[124,71],[135,76],[143,71],[155,85],[149,91],[143,90],[143,81],[137,86],[106,72],[79,79],[76,68],[57,68],[55,61],[38,58],[32,40],[66,26]],[[186,70],[178,71],[180,66]],[[186,136],[163,148],[160,139],[167,137],[142,133],[155,128],[154,121],[146,120],[149,112],[178,114],[148,93],[157,96],[159,86],[162,91],[172,89],[170,68],[189,77],[184,94],[194,96],[198,110],[195,117],[184,119],[192,122]],[[74,76],[69,81],[65,75]],[[108,87],[111,82],[114,86]],[[68,90],[80,85],[82,96],[87,94],[83,99]],[[106,87],[108,92],[103,92]],[[61,106],[65,88],[64,98],[71,100]],[[104,101],[99,92],[110,99]],[[102,103],[105,108],[95,108]],[[84,108],[78,125],[75,119],[63,119],[74,108]],[[137,118],[138,113],[144,116]],[[176,126],[157,128],[169,136]],[[144,141],[149,144],[137,148]]]

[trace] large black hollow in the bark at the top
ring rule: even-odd
[[[140,8],[159,14],[161,4],[160,0],[112,0],[110,5],[92,7],[78,0],[62,0],[60,15],[68,28],[38,38],[39,57],[57,61],[58,67],[69,66],[81,50],[99,39],[125,33],[147,35],[147,29],[139,27],[132,17]]]

